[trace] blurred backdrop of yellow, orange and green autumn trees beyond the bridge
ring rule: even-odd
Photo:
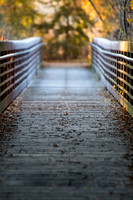
[[[122,0],[0,0],[0,40],[41,36],[46,44],[44,59],[86,59],[93,37],[118,39],[119,2]]]

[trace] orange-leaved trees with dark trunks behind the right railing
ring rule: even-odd
[[[99,0],[98,2],[88,0],[88,2],[99,20],[103,22],[101,26],[97,24],[99,27],[103,26],[102,36],[110,37],[114,33],[117,40],[133,40],[133,0]]]

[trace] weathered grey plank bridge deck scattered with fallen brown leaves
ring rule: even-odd
[[[83,67],[39,71],[1,114],[0,199],[133,199],[133,123]]]

